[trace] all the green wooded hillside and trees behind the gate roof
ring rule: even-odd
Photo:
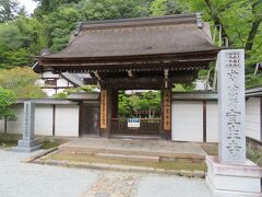
[[[253,77],[262,61],[261,0],[34,0],[34,16],[26,18],[17,0],[0,0],[0,69],[29,66],[33,57],[48,47],[63,49],[79,21],[126,19],[202,12],[212,30],[217,23],[230,47],[246,48],[247,86],[261,84]],[[257,26],[255,26],[257,25]],[[213,67],[212,67],[213,69]],[[211,77],[213,76],[213,70]],[[200,72],[200,77],[206,72]],[[212,78],[211,78],[212,81]],[[192,84],[183,85],[192,90]],[[123,106],[124,107],[124,106]]]

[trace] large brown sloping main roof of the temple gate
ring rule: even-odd
[[[38,57],[34,70],[199,70],[207,68],[218,50],[200,14],[98,21],[81,24],[66,49]]]

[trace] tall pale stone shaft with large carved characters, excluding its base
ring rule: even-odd
[[[245,50],[218,54],[219,160],[246,163]]]

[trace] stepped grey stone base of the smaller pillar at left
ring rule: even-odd
[[[13,148],[15,152],[33,152],[39,150],[41,146],[36,140],[19,140],[17,147]]]

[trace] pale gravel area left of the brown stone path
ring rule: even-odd
[[[0,150],[0,196],[74,197],[97,178],[94,172],[22,163],[32,154]]]

